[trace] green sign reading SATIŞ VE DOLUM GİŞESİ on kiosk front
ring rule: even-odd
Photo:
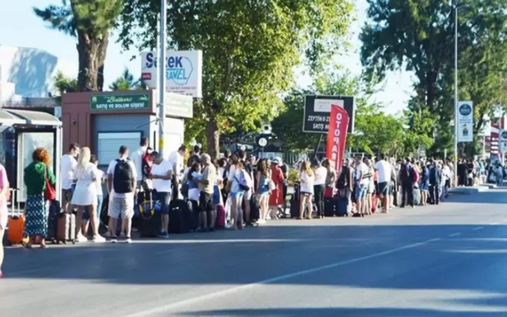
[[[91,95],[91,111],[122,111],[150,109],[149,94]]]

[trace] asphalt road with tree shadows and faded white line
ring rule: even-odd
[[[366,219],[9,249],[0,316],[507,316],[507,190]]]

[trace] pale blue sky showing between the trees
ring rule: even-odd
[[[359,59],[360,41],[358,34],[360,27],[366,20],[366,0],[352,0],[356,4],[357,21],[351,25],[350,41],[351,50],[341,56],[336,56],[336,61],[349,69],[352,74],[361,73]],[[69,76],[75,76],[78,68],[78,54],[76,51],[76,39],[56,30],[51,30],[45,23],[35,16],[32,8],[43,8],[50,4],[59,4],[60,0],[22,0],[10,1],[9,5],[1,5],[0,10],[0,45],[34,47],[45,50],[57,56],[63,61],[68,69],[65,72]],[[140,76],[140,58],[131,61],[132,56],[139,56],[139,52],[122,52],[120,44],[110,41],[105,62],[105,83],[113,82],[125,67],[128,67],[134,75]],[[308,85],[308,75],[297,76],[296,83]],[[391,72],[387,74],[385,83],[379,86],[378,93],[374,96],[377,102],[385,106],[385,112],[398,113],[407,104],[411,89],[411,74],[407,72]]]

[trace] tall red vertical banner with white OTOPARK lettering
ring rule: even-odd
[[[340,106],[331,105],[330,129],[327,131],[326,157],[334,162],[336,171],[341,171],[345,142],[347,141],[347,127],[349,115]]]

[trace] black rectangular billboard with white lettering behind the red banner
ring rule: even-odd
[[[332,105],[345,109],[349,118],[347,133],[354,133],[354,97],[315,95],[305,96],[303,132],[327,133]]]

